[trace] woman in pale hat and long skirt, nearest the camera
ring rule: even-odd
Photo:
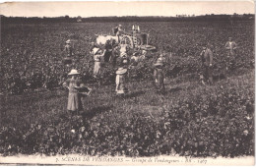
[[[77,113],[83,110],[79,89],[85,87],[85,84],[82,83],[79,76],[80,73],[78,73],[77,70],[73,69],[68,74],[68,77],[70,78],[63,83],[63,86],[69,89],[67,110]]]

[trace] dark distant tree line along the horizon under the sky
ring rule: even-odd
[[[62,17],[6,17],[0,15],[1,23],[124,23],[124,22],[212,22],[212,21],[249,21],[254,20],[254,14],[243,15],[203,15],[203,16],[188,16],[188,15],[176,15],[176,17],[90,17],[82,18],[69,17],[68,15]]]

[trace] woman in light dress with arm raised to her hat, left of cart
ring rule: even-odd
[[[102,52],[99,48],[94,48],[94,60],[95,60],[95,67],[94,67],[94,77],[97,79],[100,76],[100,59],[104,56],[105,50]]]

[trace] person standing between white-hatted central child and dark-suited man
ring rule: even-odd
[[[154,81],[155,81],[155,86],[157,88],[157,91],[160,93],[164,93],[164,72],[162,70],[163,68],[163,56],[160,54],[160,58],[157,60],[157,63],[154,64]]]

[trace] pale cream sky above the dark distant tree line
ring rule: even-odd
[[[254,1],[91,1],[0,4],[0,14],[14,17],[173,16],[254,14]]]

